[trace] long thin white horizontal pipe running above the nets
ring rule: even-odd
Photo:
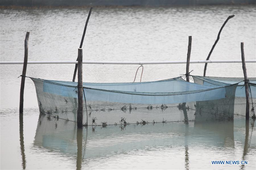
[[[241,60],[194,60],[190,63],[241,63]],[[256,63],[256,60],[245,60]],[[83,61],[83,64],[185,64],[187,61]],[[23,64],[23,61],[0,61],[0,64]],[[77,61],[28,61],[28,64],[77,64]]]

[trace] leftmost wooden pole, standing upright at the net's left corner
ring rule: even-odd
[[[20,84],[20,114],[23,114],[23,101],[24,101],[24,86],[25,86],[25,76],[27,70],[27,63],[28,63],[28,38],[29,32],[26,33],[26,38],[24,42],[25,53],[24,53],[24,63],[23,63],[23,70],[21,76],[21,84]]]

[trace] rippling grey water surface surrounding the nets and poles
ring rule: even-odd
[[[29,60],[75,60],[88,9],[0,10],[1,61],[22,61],[30,31]],[[94,8],[83,45],[84,60],[256,59],[255,6],[197,8]],[[256,77],[255,63],[247,74]],[[39,116],[33,82],[26,79],[24,126],[19,126],[22,65],[0,66],[1,169],[255,169],[252,120],[96,127],[77,131],[64,120]],[[86,82],[132,82],[137,65],[84,65]],[[194,75],[203,64],[191,64]],[[27,76],[71,81],[74,65],[28,65]],[[177,77],[185,65],[145,65],[142,81]],[[208,76],[243,77],[241,63],[208,64]],[[137,81],[139,79],[137,78]],[[244,115],[243,112],[239,114]],[[22,125],[22,122],[21,122]],[[212,165],[211,160],[248,160],[248,165]]]

